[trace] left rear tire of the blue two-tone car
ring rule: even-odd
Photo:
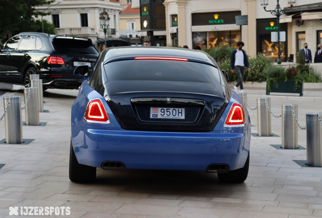
[[[96,179],[95,167],[81,165],[77,162],[71,139],[69,152],[69,179],[74,183],[94,182]]]

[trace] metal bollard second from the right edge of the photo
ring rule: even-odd
[[[291,106],[295,116],[298,115],[297,104],[283,104],[282,105],[282,148],[297,149],[298,148],[298,127],[295,123]]]

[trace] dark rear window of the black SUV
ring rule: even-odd
[[[68,52],[77,54],[98,54],[92,42],[77,39],[61,39],[55,38],[53,46],[57,52]]]

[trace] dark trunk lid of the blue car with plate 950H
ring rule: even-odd
[[[126,130],[210,132],[228,102],[225,87],[214,83],[108,81],[104,88],[112,113]]]

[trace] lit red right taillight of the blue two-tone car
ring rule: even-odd
[[[245,125],[244,108],[241,104],[233,103],[226,118],[226,127],[240,127]]]

